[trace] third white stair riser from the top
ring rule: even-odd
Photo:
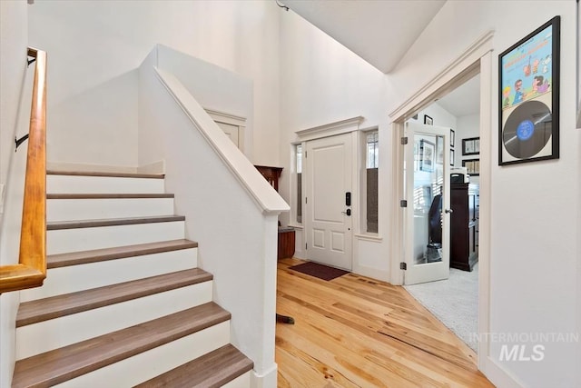
[[[47,254],[88,251],[184,238],[183,221],[58,229],[46,233]]]

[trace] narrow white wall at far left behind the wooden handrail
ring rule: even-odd
[[[24,189],[26,144],[14,152],[15,134],[27,132],[30,103],[25,93],[26,47],[28,45],[27,5],[0,2],[0,185],[5,185],[5,212],[0,209],[0,265],[18,262],[22,193]],[[31,67],[32,71],[32,67]],[[30,99],[27,100],[30,102]],[[19,108],[22,106],[22,112]],[[20,114],[19,114],[20,113]],[[20,116],[20,117],[19,117]],[[3,199],[0,198],[0,206]],[[15,363],[15,317],[19,293],[0,295],[0,386],[10,386]]]

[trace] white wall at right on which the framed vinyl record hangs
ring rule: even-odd
[[[562,17],[561,79],[575,79],[575,7],[574,1],[447,2],[398,69],[389,75],[392,107],[412,95],[487,30],[495,30],[494,48],[499,53],[554,15]],[[576,242],[579,175],[571,174],[578,170],[580,160],[580,133],[572,130],[576,83],[561,83],[560,159],[499,167],[497,61],[493,62],[492,75],[490,330],[572,333],[578,329],[579,304],[573,290],[577,289],[580,256]],[[534,343],[527,344],[530,348]],[[492,359],[526,386],[572,386],[574,375],[579,374],[579,343],[546,343],[545,359],[540,363],[499,362],[502,343],[491,345]]]

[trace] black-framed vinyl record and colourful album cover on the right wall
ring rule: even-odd
[[[560,21],[498,55],[498,165],[559,157]]]

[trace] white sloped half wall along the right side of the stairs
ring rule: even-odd
[[[200,244],[198,264],[214,275],[212,299],[232,314],[231,343],[254,362],[255,377],[267,376],[264,386],[274,386],[277,217],[288,207],[179,81],[182,95],[174,100],[166,91],[153,71],[156,54],[140,68],[140,157],[165,160],[166,190],[175,194],[176,213],[186,216],[186,237]],[[238,158],[237,168],[281,205],[278,212],[257,205],[225,163],[228,157]]]

